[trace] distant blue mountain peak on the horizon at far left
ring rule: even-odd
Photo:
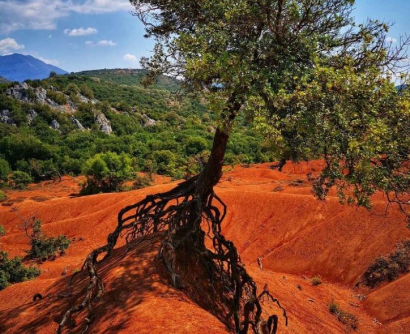
[[[51,71],[57,74],[68,73],[29,55],[14,53],[8,56],[0,56],[0,76],[10,81],[21,82],[27,79],[45,79]]]

